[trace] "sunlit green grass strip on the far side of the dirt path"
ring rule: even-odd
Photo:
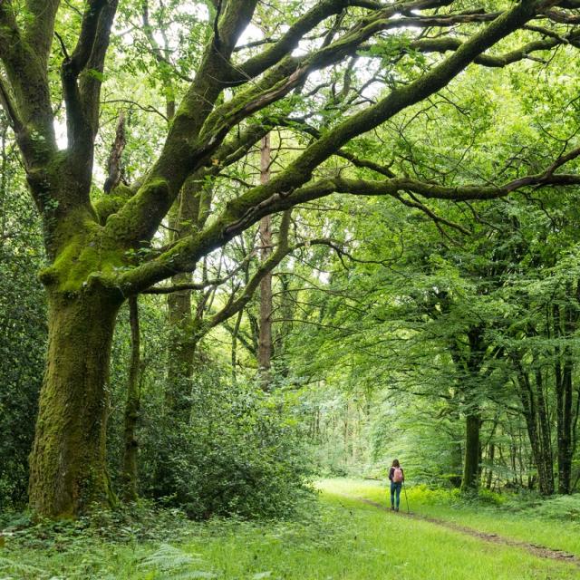
[[[369,498],[385,506],[390,503],[385,484],[378,481],[324,479],[319,487],[327,493]],[[563,503],[560,499],[546,500],[543,504],[526,508],[518,507],[515,502],[502,505],[470,504],[459,501],[449,492],[420,487],[408,488],[407,495],[414,513],[580,556],[580,521],[578,517],[575,521],[569,521],[571,517],[565,513],[556,519],[556,507]],[[580,508],[580,497],[574,498],[574,501]],[[554,506],[553,513],[549,511],[551,505]],[[406,509],[404,495],[401,495],[401,508]]]

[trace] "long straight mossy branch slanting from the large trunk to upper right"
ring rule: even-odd
[[[179,244],[157,259],[139,266],[131,272],[121,274],[119,280],[121,286],[130,293],[138,292],[144,287],[169,277],[176,271],[191,270],[195,266],[198,256],[223,245],[243,228],[255,223],[256,219],[273,211],[278,211],[278,208],[290,208],[296,203],[332,193],[337,185],[333,180],[327,180],[324,187],[303,188],[300,194],[297,194],[295,189],[311,179],[314,169],[328,159],[333,152],[340,150],[346,142],[363,132],[372,130],[382,122],[391,119],[398,112],[438,92],[469,63],[472,63],[479,54],[485,52],[520,26],[527,24],[538,10],[545,8],[548,4],[552,3],[536,0],[536,2],[517,4],[506,14],[502,14],[491,24],[488,24],[484,30],[475,34],[468,42],[463,43],[455,53],[433,67],[429,73],[425,73],[409,85],[392,91],[380,102],[355,113],[350,119],[325,133],[268,184],[250,189],[240,198],[229,202],[222,216],[212,222],[205,231],[195,236],[183,238]],[[173,167],[175,168],[175,160]],[[409,187],[397,187],[394,181],[387,181],[385,184],[389,184],[387,187],[389,193],[410,189]],[[517,187],[523,187],[523,185],[525,184],[522,183]],[[433,188],[434,186],[429,187]],[[457,194],[457,189],[453,191]],[[433,189],[428,191],[431,194],[432,192]],[[160,198],[168,196],[169,192],[157,190],[157,193],[155,199],[160,205]],[[422,192],[418,191],[417,193]],[[493,189],[492,197],[498,197],[497,189]],[[149,205],[146,207],[150,208]]]

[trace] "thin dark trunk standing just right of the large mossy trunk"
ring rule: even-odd
[[[139,442],[135,430],[140,411],[140,328],[137,296],[129,298],[129,321],[131,324],[131,365],[129,368],[129,384],[127,385],[127,400],[125,402],[121,485],[123,499],[125,501],[135,501],[138,496],[137,455],[139,450]]]

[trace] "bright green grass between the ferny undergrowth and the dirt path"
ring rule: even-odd
[[[490,544],[420,518],[385,514],[324,491],[317,529],[264,528],[208,537],[203,553],[218,578],[241,580],[572,580],[578,568],[514,546]]]

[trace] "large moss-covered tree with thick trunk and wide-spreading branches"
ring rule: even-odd
[[[258,18],[258,0],[191,3],[206,5],[210,40],[196,70],[189,72],[189,86],[159,155],[141,168],[137,185],[119,184],[103,196],[95,179],[95,142],[106,63],[119,50],[112,42],[121,34],[115,17],[118,9],[141,3],[0,1],[0,102],[43,218],[50,262],[40,276],[48,296],[49,347],[31,455],[30,504],[39,514],[74,516],[92,502],[114,501],[105,466],[107,378],[116,315],[131,295],[192,272],[203,256],[260,218],[333,192],[478,199],[580,182],[574,173],[561,172],[578,150],[565,150],[536,175],[466,186],[397,176],[352,146],[357,137],[444,89],[471,63],[503,67],[574,45],[574,11],[580,3],[491,2],[489,10],[449,0],[289,4],[280,3],[279,11],[270,13],[278,24],[275,37],[244,49],[238,39]],[[70,23],[68,34],[54,34],[55,23]],[[432,29],[440,34],[425,34]],[[511,43],[496,47],[507,37]],[[345,99],[364,90],[362,79],[352,86],[361,52],[381,63],[384,74],[378,77],[384,84],[378,97]],[[421,65],[407,67],[404,78],[390,72],[389,67],[417,54]],[[333,74],[326,86],[342,86],[341,115],[324,123],[323,131],[309,125],[303,149],[267,183],[213,204],[201,229],[161,247],[156,232],[184,186],[227,168],[266,131],[276,126],[299,131],[312,121],[316,102],[306,95],[312,97],[316,89],[306,92],[304,86],[309,77],[324,77],[327,71]],[[65,148],[55,134],[61,105]],[[376,180],[318,170],[335,155],[372,169]]]

